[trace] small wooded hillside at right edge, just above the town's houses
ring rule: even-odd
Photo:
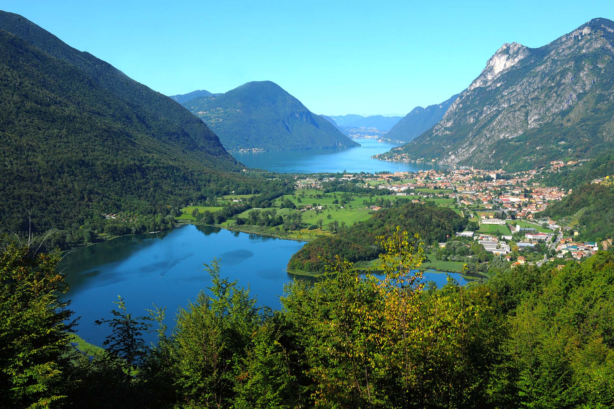
[[[578,239],[599,241],[614,237],[614,188],[598,184],[580,186],[540,214],[554,220],[573,220],[579,215],[575,226],[580,232]]]

